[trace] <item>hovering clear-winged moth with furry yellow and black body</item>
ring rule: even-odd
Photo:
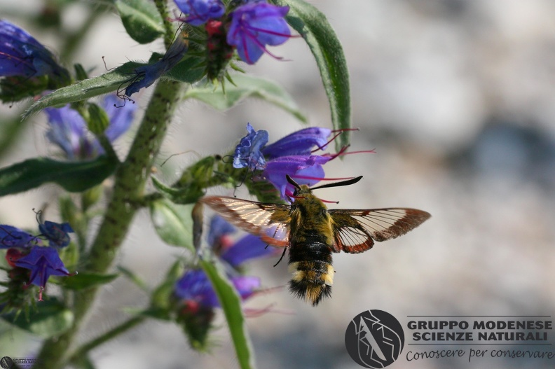
[[[327,209],[312,193],[319,188],[347,186],[360,179],[362,176],[310,188],[287,176],[295,188],[294,202],[290,205],[221,196],[203,197],[198,205],[207,204],[226,221],[260,236],[263,242],[289,248],[289,270],[293,273],[289,290],[316,306],[322,298],[331,295],[332,252],[361,253],[371,249],[374,241],[404,235],[430,218],[426,211],[409,208]],[[200,209],[193,210],[197,249],[202,232]]]

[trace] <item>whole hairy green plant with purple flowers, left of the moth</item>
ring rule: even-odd
[[[11,15],[13,20],[0,20],[0,101],[20,113],[18,124],[9,126],[15,128],[0,130],[1,142],[17,147],[20,127],[46,116],[44,131],[29,132],[44,132],[45,141],[58,149],[46,151],[52,157],[27,157],[0,168],[0,196],[50,189],[45,204],[37,205],[44,206],[37,213],[38,229],[28,232],[9,225],[9,219],[0,225],[5,260],[1,317],[43,340],[34,368],[61,369],[93,368],[90,351],[147,319],[177,323],[191,347],[204,350],[221,331],[213,324],[221,315],[238,365],[254,368],[244,321],[252,309],[244,303],[268,284],[245,265],[275,255],[275,249],[252,235],[235,237],[221,218],[212,221],[203,241],[208,246],[195,249],[198,239],[191,234],[196,237],[198,230],[191,232],[190,205],[213,188],[232,193],[238,187],[257,200],[283,202],[292,192],[286,174],[298,183],[324,179],[323,165],[348,146],[350,92],[341,43],[326,17],[304,0],[84,2],[83,22],[71,27],[61,21],[69,16],[65,3],[45,1],[50,22],[33,22],[32,32],[17,24],[34,18]],[[104,8],[116,11],[125,32],[137,43],[149,43],[152,53],[115,69],[98,60],[87,60],[85,66],[76,62],[76,50],[89,47],[83,43],[108,13]],[[189,121],[186,109],[177,109],[191,99],[225,111],[256,97],[307,123],[284,88],[249,70],[264,54],[274,57],[269,62],[280,63],[270,47],[288,40],[304,41],[312,50],[329,98],[332,127],[299,128],[269,144],[270,132],[281,127],[266,132],[248,125],[246,137],[230,137],[228,147],[235,151],[178,167],[176,178],[165,183],[168,177],[157,171],[158,153],[172,132],[170,125],[203,125]],[[126,50],[121,48],[122,56]],[[102,50],[96,52],[102,55]],[[283,57],[294,62],[294,55]],[[151,93],[137,93],[145,89]],[[245,122],[229,120],[226,125],[244,127]],[[337,137],[339,132],[345,133]],[[130,145],[116,153],[114,144],[123,134],[130,136]],[[336,153],[329,147],[332,141]],[[125,259],[121,244],[142,209],[149,209],[161,242],[179,248],[167,255],[174,263],[155,286],[142,283],[141,272],[116,267]],[[50,220],[42,221],[43,215]],[[157,247],[156,242],[151,246]],[[117,326],[102,325],[93,340],[78,340],[86,318],[94,315],[90,312],[99,292],[123,277],[135,281],[149,302],[125,310],[128,319]]]

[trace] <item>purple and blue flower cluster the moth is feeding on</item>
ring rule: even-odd
[[[254,130],[247,123],[247,136],[235,148],[233,167],[248,168],[254,172],[261,170],[261,177],[278,188],[282,199],[288,200],[294,192],[286,174],[299,184],[313,186],[324,179],[324,164],[343,154],[324,153],[315,155],[314,151],[324,150],[330,141],[332,130],[322,127],[309,127],[289,134],[273,144],[268,143],[268,132]],[[339,132],[341,133],[341,132]]]

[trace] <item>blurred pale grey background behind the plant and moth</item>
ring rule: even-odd
[[[338,207],[416,207],[432,218],[404,237],[360,255],[334,256],[334,294],[318,307],[293,298],[285,288],[262,295],[248,307],[273,308],[248,320],[259,368],[358,368],[345,351],[345,328],[366,309],[382,309],[401,321],[407,315],[551,315],[555,312],[555,2],[551,0],[359,0],[311,1],[343,41],[351,76],[352,150],[326,165],[328,176],[364,176],[354,186],[321,190]],[[0,0],[0,16],[33,33],[18,14],[38,11],[41,1]],[[22,8],[21,8],[22,7]],[[81,20],[79,4],[64,16]],[[36,38],[55,51],[48,34]],[[159,43],[137,44],[115,14],[107,14],[83,39],[79,57],[102,74],[107,66],[148,60]],[[302,107],[310,125],[329,127],[329,106],[319,74],[302,39],[291,39],[245,69],[281,83]],[[144,107],[151,88],[137,96]],[[134,96],[135,98],[135,96]],[[18,106],[2,109],[9,115]],[[43,136],[46,122],[32,118],[25,149],[9,165],[55,150]],[[275,140],[302,126],[292,116],[258,100],[226,113],[198,102],[179,109],[163,158],[179,168],[199,155],[226,153],[245,125]],[[118,149],[125,153],[125,139]],[[215,193],[228,193],[224,188]],[[58,193],[46,186],[0,199],[0,221],[36,223],[31,209]],[[334,205],[335,207],[335,205]],[[53,210],[53,209],[52,209]],[[54,214],[53,214],[54,215]],[[156,237],[146,212],[139,214],[118,258],[151,286],[163,278],[181,250]],[[285,286],[287,263],[259,260],[252,274],[264,286]],[[83,339],[125,319],[126,307],[142,307],[144,294],[129,281],[107,286]],[[97,368],[235,368],[226,323],[214,335],[212,354],[189,349],[177,326],[152,321],[98,348]],[[2,326],[1,353],[30,356],[38,340]],[[553,335],[555,333],[549,333]],[[550,342],[553,342],[552,337]],[[24,340],[24,341],[22,341]],[[21,342],[25,342],[22,344]],[[407,337],[406,343],[410,343]],[[548,346],[551,347],[551,346]],[[416,347],[418,350],[440,347]],[[514,347],[513,347],[514,348]],[[528,347],[529,348],[529,347]],[[537,347],[536,347],[537,348]],[[544,348],[544,347],[540,347]],[[426,359],[392,368],[552,368],[547,359]],[[550,351],[550,349],[547,349]],[[0,354],[1,354],[0,353]]]

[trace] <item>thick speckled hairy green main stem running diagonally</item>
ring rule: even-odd
[[[81,258],[86,260],[83,272],[105,273],[116,258],[137,211],[131,204],[143,195],[151,166],[160,150],[182,90],[182,85],[173,81],[160,81],[156,85],[128,157],[116,171],[114,193],[95,242],[88,256]],[[97,292],[98,287],[76,291],[73,325],[62,335],[44,342],[37,357],[36,368],[64,367],[71,356],[71,346],[76,341],[77,333],[95,301]]]

